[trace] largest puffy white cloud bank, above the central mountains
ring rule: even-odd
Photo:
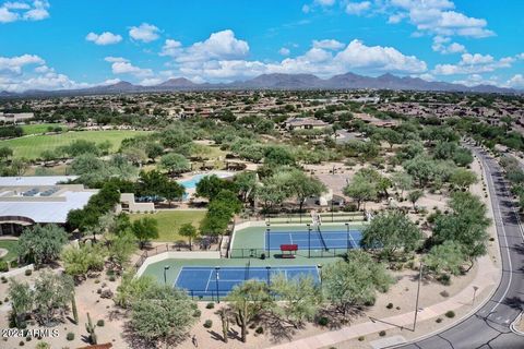
[[[166,43],[165,48],[171,45]],[[349,45],[334,39],[313,40],[303,55],[285,58],[282,61],[250,61],[248,43],[235,37],[231,31],[214,33],[209,39],[189,47],[176,41],[172,45],[172,61],[167,65],[172,70],[160,74],[184,76],[192,81],[227,82],[253,77],[264,73],[310,73],[321,77],[357,70],[364,73],[407,73],[427,72],[426,63],[415,56],[406,56],[393,47],[366,46],[360,40]],[[281,53],[287,53],[281,50]],[[129,63],[129,61],[127,61]]]

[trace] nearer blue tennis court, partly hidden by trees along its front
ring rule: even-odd
[[[283,274],[287,279],[299,276],[311,276],[317,282],[319,272],[315,266],[261,266],[241,267],[224,266],[219,269],[209,266],[184,266],[178,274],[175,286],[186,289],[194,297],[227,296],[231,289],[246,280],[271,281],[276,275]]]

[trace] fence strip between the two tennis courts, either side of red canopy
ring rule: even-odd
[[[336,249],[299,249],[296,252],[296,255],[301,257],[311,257],[311,258],[326,258],[326,257],[343,257],[347,254],[350,249],[348,248],[336,248]],[[281,258],[282,253],[278,250],[271,250],[271,256],[275,258]],[[266,249],[230,249],[229,258],[266,258],[267,250]]]

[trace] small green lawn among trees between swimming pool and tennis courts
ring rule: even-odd
[[[158,239],[155,241],[175,242],[177,240],[186,240],[178,234],[180,226],[187,222],[193,224],[195,228],[199,228],[200,221],[204,218],[206,210],[204,209],[191,209],[191,210],[159,210],[156,214],[131,214],[131,220],[135,220],[142,217],[152,217],[158,221]]]

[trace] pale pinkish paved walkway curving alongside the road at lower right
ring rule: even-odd
[[[443,315],[450,310],[457,310],[464,305],[474,305],[472,304],[473,300],[473,286],[478,287],[477,294],[481,293],[484,290],[498,285],[499,282],[499,269],[491,263],[489,256],[484,256],[478,260],[477,275],[473,279],[471,287],[466,287],[457,294],[450,297],[441,303],[437,303],[427,308],[424,308],[418,313],[418,321],[430,320],[440,315]],[[424,304],[420,304],[424,306]],[[390,316],[381,318],[382,322],[366,322],[356,324],[353,326],[344,327],[342,329],[332,330],[323,333],[320,335],[306,337],[289,341],[286,344],[277,345],[272,347],[273,349],[317,349],[329,346],[334,346],[338,342],[349,340],[352,338],[357,338],[359,336],[366,336],[370,334],[378,333],[380,330],[388,330],[391,328],[396,328],[398,326],[405,326],[406,328],[413,327],[414,313],[404,313],[395,316]],[[389,325],[395,324],[394,325]],[[421,335],[421,334],[420,334]]]

